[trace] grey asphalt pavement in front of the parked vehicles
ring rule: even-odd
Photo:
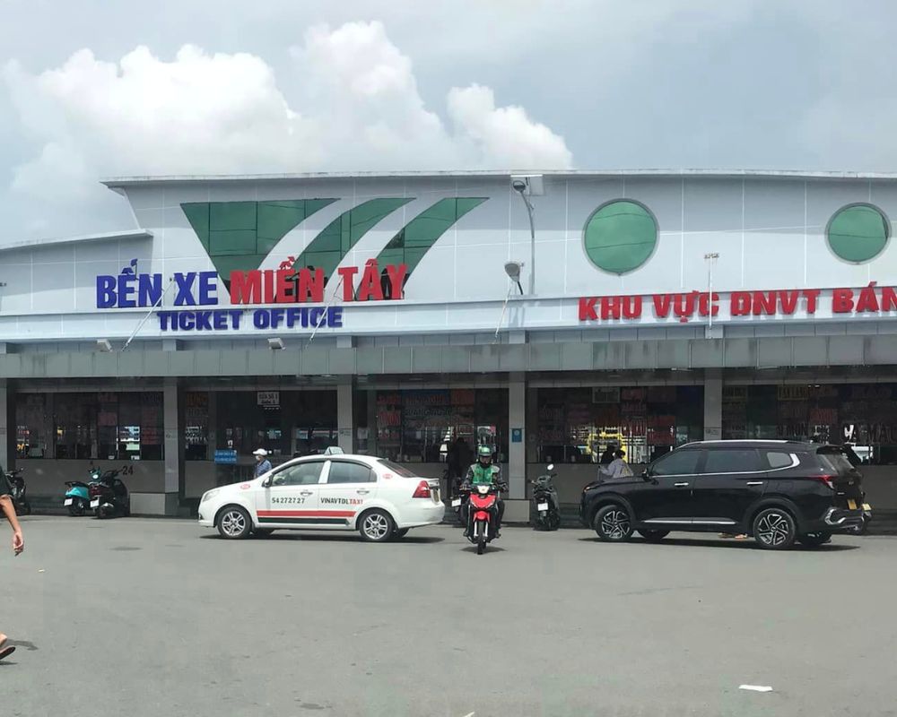
[[[894,714],[897,538],[822,549],[448,526],[385,545],[31,517],[0,554],[2,712]],[[4,535],[4,548],[8,531]],[[758,692],[740,686],[771,687]]]

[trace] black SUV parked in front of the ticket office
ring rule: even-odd
[[[861,476],[847,456],[838,445],[794,441],[686,444],[640,476],[589,483],[579,517],[608,541],[722,530],[766,549],[821,545],[863,522]]]

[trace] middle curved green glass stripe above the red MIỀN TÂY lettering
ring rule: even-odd
[[[414,197],[390,197],[369,199],[357,207],[343,212],[313,238],[309,246],[299,255],[293,269],[306,267],[321,268],[330,277],[336,271],[345,255],[359,239],[370,231],[377,222],[388,217],[399,207],[411,202]]]

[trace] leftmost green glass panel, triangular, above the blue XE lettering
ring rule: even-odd
[[[180,207],[212,259],[215,271],[229,281],[231,272],[257,269],[288,232],[335,201],[196,202]]]

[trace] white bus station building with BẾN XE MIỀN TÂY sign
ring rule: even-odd
[[[441,476],[463,437],[525,518],[544,462],[576,503],[613,443],[816,437],[897,508],[897,176],[106,184],[136,229],[0,248],[0,462],[32,496],[100,464],[177,514],[259,446]]]

